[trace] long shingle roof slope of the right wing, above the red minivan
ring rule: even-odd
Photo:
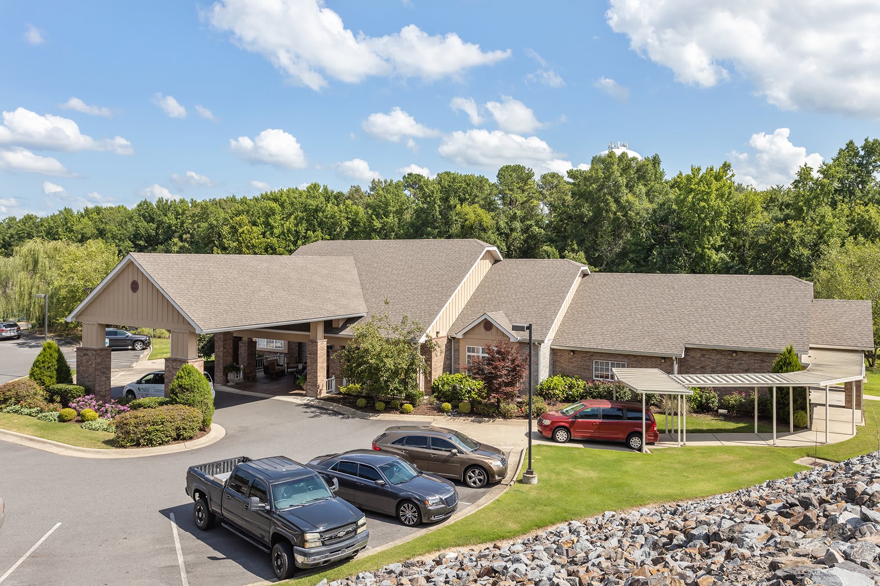
[[[593,273],[553,345],[681,356],[686,346],[781,351],[810,345],[812,284],[788,276]]]

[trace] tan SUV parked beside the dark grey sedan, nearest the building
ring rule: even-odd
[[[373,450],[398,455],[422,472],[464,481],[471,488],[502,481],[507,475],[504,452],[443,427],[389,427],[373,440]]]

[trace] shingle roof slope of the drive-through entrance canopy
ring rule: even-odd
[[[202,331],[364,315],[353,258],[130,255]],[[218,283],[222,281],[222,284]]]

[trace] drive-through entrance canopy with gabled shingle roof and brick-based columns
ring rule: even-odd
[[[161,328],[171,332],[165,358],[165,395],[185,364],[203,370],[198,336],[215,336],[216,380],[224,367],[242,365],[255,377],[257,338],[306,346],[305,394],[326,392],[325,328],[366,315],[354,260],[320,257],[174,255],[131,253],[68,315],[82,322],[77,384],[110,398],[108,326]],[[238,355],[233,356],[233,340]],[[331,344],[344,340],[329,340]]]

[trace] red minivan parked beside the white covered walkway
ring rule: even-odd
[[[597,439],[603,442],[626,442],[634,450],[642,449],[642,404],[603,399],[584,399],[558,411],[548,411],[538,420],[538,430],[545,438],[560,444],[569,439]],[[645,435],[648,443],[660,439],[654,415],[648,409]]]

